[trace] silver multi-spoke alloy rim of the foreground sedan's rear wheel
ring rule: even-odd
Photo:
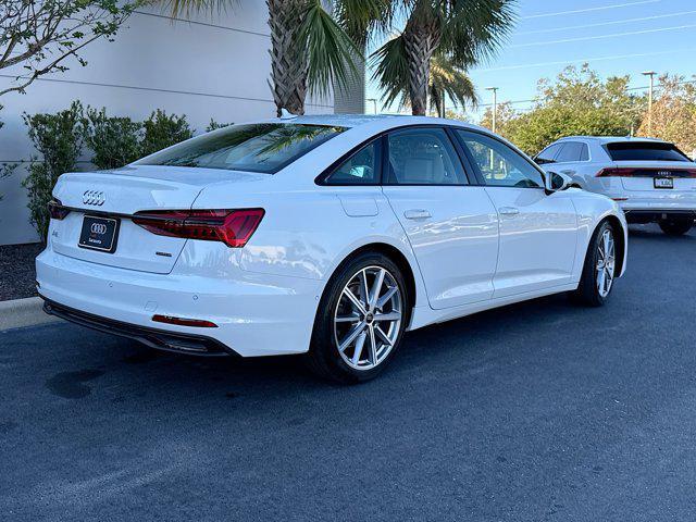
[[[402,310],[401,290],[389,271],[366,266],[353,274],[334,313],[334,338],[346,364],[372,370],[384,361],[398,339]]]

